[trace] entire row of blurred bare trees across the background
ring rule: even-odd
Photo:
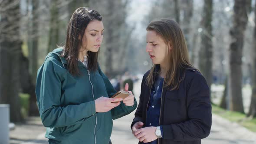
[[[130,3],[131,0],[0,1],[0,103],[10,104],[11,121],[23,120],[20,92],[30,95],[29,115],[38,115],[37,69],[48,52],[64,44],[67,23],[78,7],[93,7],[103,16],[105,35],[100,64],[108,77],[128,70],[144,73],[150,65],[145,58],[144,41],[134,34],[135,23],[127,21]],[[256,18],[248,24],[248,17],[256,13],[255,7],[251,0],[158,0],[152,3],[147,16],[138,19],[144,26],[161,17],[175,19],[184,31],[190,60],[208,85],[213,83],[213,76],[220,84],[227,79],[227,97],[223,95],[222,106],[244,113],[242,72],[247,67],[243,58],[256,52]],[[254,35],[250,33],[253,29]],[[248,52],[252,48],[254,51]],[[248,113],[252,117],[256,117],[255,57],[248,62],[254,64],[250,66],[253,94]],[[245,73],[248,76],[249,72]]]

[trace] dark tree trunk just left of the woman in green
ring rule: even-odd
[[[20,84],[23,93],[28,93],[29,98],[29,116],[38,116],[38,107],[36,105],[36,95],[35,95],[35,85],[36,85],[36,75],[38,69],[38,6],[39,1],[31,1],[32,5],[32,17],[28,23],[29,27],[29,39],[28,39],[28,49],[29,49],[29,59],[27,60],[23,53],[20,53]],[[29,71],[28,71],[29,70]]]

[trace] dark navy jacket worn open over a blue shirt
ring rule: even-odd
[[[140,101],[131,127],[138,121],[146,124],[151,89],[146,84],[148,74],[149,71],[142,79]],[[201,139],[210,134],[212,115],[207,82],[195,69],[184,70],[183,75],[177,90],[163,89],[160,125],[164,134],[159,144],[201,144]]]

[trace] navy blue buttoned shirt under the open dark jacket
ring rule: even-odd
[[[164,78],[157,76],[155,79],[154,85],[152,86],[150,100],[148,103],[146,127],[159,126],[163,82],[164,82]],[[160,126],[160,129],[163,136],[162,126]],[[158,143],[158,139],[156,139],[155,141],[151,141],[147,144],[157,144],[157,143]]]

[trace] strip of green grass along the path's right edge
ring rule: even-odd
[[[235,111],[227,111],[215,104],[212,104],[212,112],[229,121],[236,122],[250,131],[256,132],[256,118],[247,118],[245,114]]]

